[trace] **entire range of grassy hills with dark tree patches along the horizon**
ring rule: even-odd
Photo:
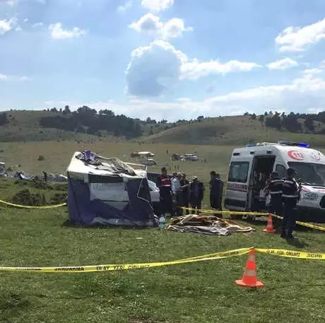
[[[238,146],[254,141],[288,140],[307,141],[318,147],[325,146],[325,135],[319,134],[325,131],[324,122],[314,121],[314,133],[318,134],[311,134],[305,127],[305,119],[297,119],[296,124],[300,127],[300,132],[289,132],[283,127],[266,127],[266,122],[261,122],[258,117],[252,115],[206,119],[200,117],[196,120],[168,123],[165,120],[156,122],[150,118],[141,121],[123,115],[96,114],[95,110],[88,107],[87,109],[89,110],[86,112],[73,112],[69,115],[53,111],[11,110],[6,112],[6,124],[0,126],[0,141],[127,140],[143,143]],[[105,110],[106,112],[110,111]]]

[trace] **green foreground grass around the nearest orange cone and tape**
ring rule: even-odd
[[[17,186],[1,182],[9,198]],[[0,206],[1,266],[160,262],[240,247],[324,252],[324,233],[211,237],[158,228],[74,228],[66,208]],[[141,238],[141,239],[138,239]],[[0,322],[324,322],[324,262],[257,254],[261,290],[235,286],[247,256],[93,274],[1,273]]]

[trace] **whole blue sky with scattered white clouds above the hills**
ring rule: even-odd
[[[324,0],[0,0],[0,110],[325,110]]]

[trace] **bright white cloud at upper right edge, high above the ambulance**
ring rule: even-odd
[[[317,44],[317,42],[324,38],[325,18],[303,28],[285,28],[276,37],[276,43],[280,46],[280,52],[302,52],[309,45]]]

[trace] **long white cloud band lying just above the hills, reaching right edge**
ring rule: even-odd
[[[217,95],[206,100],[193,101],[178,98],[174,102],[162,100],[142,100],[131,98],[121,105],[111,100],[103,102],[67,102],[71,109],[87,105],[96,110],[109,109],[117,114],[146,119],[194,119],[199,115],[215,117],[264,111],[309,112],[325,110],[325,79],[304,76],[284,85],[258,86],[226,95]],[[49,102],[49,106],[60,106],[59,102]]]

